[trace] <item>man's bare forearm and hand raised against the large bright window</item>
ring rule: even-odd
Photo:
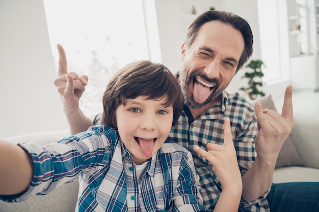
[[[79,108],[79,98],[83,95],[88,83],[86,75],[78,76],[76,73],[68,73],[67,60],[63,47],[57,45],[59,52],[58,77],[54,81],[61,95],[64,114],[67,117],[72,135],[86,131],[93,125],[92,120]]]

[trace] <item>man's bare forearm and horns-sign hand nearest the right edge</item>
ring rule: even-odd
[[[294,128],[293,88],[285,91],[282,114],[274,110],[262,110],[260,102],[255,105],[259,132],[255,138],[257,152],[252,167],[243,175],[243,197],[252,201],[271,188],[273,174],[280,148]]]

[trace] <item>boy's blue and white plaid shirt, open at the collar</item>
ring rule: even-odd
[[[33,159],[29,189],[14,199],[47,194],[79,177],[76,211],[204,211],[192,155],[167,140],[151,158],[140,183],[115,129],[94,126],[56,144],[19,144]]]

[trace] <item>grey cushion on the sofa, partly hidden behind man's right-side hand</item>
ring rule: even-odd
[[[264,109],[268,108],[277,111],[271,95],[267,97],[262,97],[256,101],[260,101],[261,106]],[[256,101],[252,102],[253,105],[256,103]],[[304,165],[304,161],[299,156],[295,144],[291,140],[290,136],[288,136],[280,149],[275,168]]]

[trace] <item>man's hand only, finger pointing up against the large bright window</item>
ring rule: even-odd
[[[57,48],[59,52],[59,70],[54,84],[61,95],[64,113],[67,115],[78,109],[79,98],[83,95],[89,78],[86,75],[78,76],[74,72],[68,73],[65,51],[60,44],[57,45]]]

